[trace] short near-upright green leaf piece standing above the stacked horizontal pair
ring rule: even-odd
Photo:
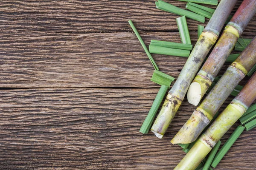
[[[191,44],[190,36],[189,36],[189,28],[186,23],[186,17],[176,18],[176,22],[178,25],[180,39],[183,44]]]

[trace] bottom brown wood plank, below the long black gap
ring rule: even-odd
[[[173,169],[185,153],[169,141],[195,107],[183,102],[163,139],[152,133],[143,135],[140,125],[157,91],[2,90],[0,169]],[[245,131],[216,169],[255,169],[255,132]]]

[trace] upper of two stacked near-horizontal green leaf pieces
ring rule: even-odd
[[[181,50],[192,50],[192,44],[183,44],[177,42],[169,42],[169,41],[158,41],[158,40],[151,40],[150,45],[156,45],[161,47],[167,48],[175,48]]]

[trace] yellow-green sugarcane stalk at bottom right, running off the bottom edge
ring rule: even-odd
[[[256,73],[247,82],[240,93],[227,108],[215,119],[210,127],[200,136],[175,170],[195,170],[215,144],[230,127],[247,111],[256,99]]]

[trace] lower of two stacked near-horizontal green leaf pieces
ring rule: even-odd
[[[160,47],[156,45],[149,45],[149,52],[152,54],[163,54],[170,56],[189,57],[189,50],[181,50],[175,48]]]

